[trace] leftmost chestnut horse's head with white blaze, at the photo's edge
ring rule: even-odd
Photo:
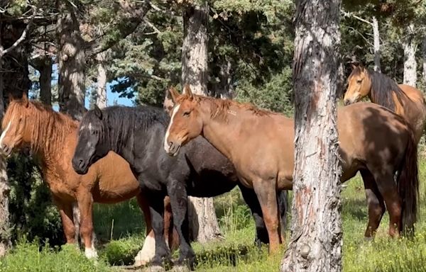
[[[27,127],[28,116],[31,114],[28,108],[29,101],[26,94],[21,99],[9,96],[9,106],[1,123],[0,136],[1,151],[9,156],[13,149],[23,147],[24,143],[31,142],[31,130]]]

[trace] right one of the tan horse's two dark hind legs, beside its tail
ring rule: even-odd
[[[383,169],[381,169],[383,173]],[[385,200],[386,208],[389,212],[389,235],[391,237],[398,237],[401,231],[401,200],[398,195],[398,188],[393,180],[392,171],[388,171],[388,174],[380,174],[377,172],[374,175],[378,191]]]

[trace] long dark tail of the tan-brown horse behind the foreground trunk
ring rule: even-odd
[[[419,177],[417,169],[417,142],[413,129],[408,125],[407,147],[405,158],[400,165],[398,175],[398,195],[402,201],[401,227],[407,234],[414,234],[414,224],[417,222],[418,198],[419,198]]]

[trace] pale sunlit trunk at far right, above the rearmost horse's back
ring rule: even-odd
[[[417,83],[417,62],[415,60],[415,52],[417,50],[417,42],[414,38],[414,25],[410,23],[407,26],[404,47],[404,84],[415,87]]]

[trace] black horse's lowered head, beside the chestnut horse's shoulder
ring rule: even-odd
[[[109,152],[103,118],[103,113],[97,106],[82,118],[77,147],[72,157],[72,167],[78,174],[86,174],[92,164]]]

